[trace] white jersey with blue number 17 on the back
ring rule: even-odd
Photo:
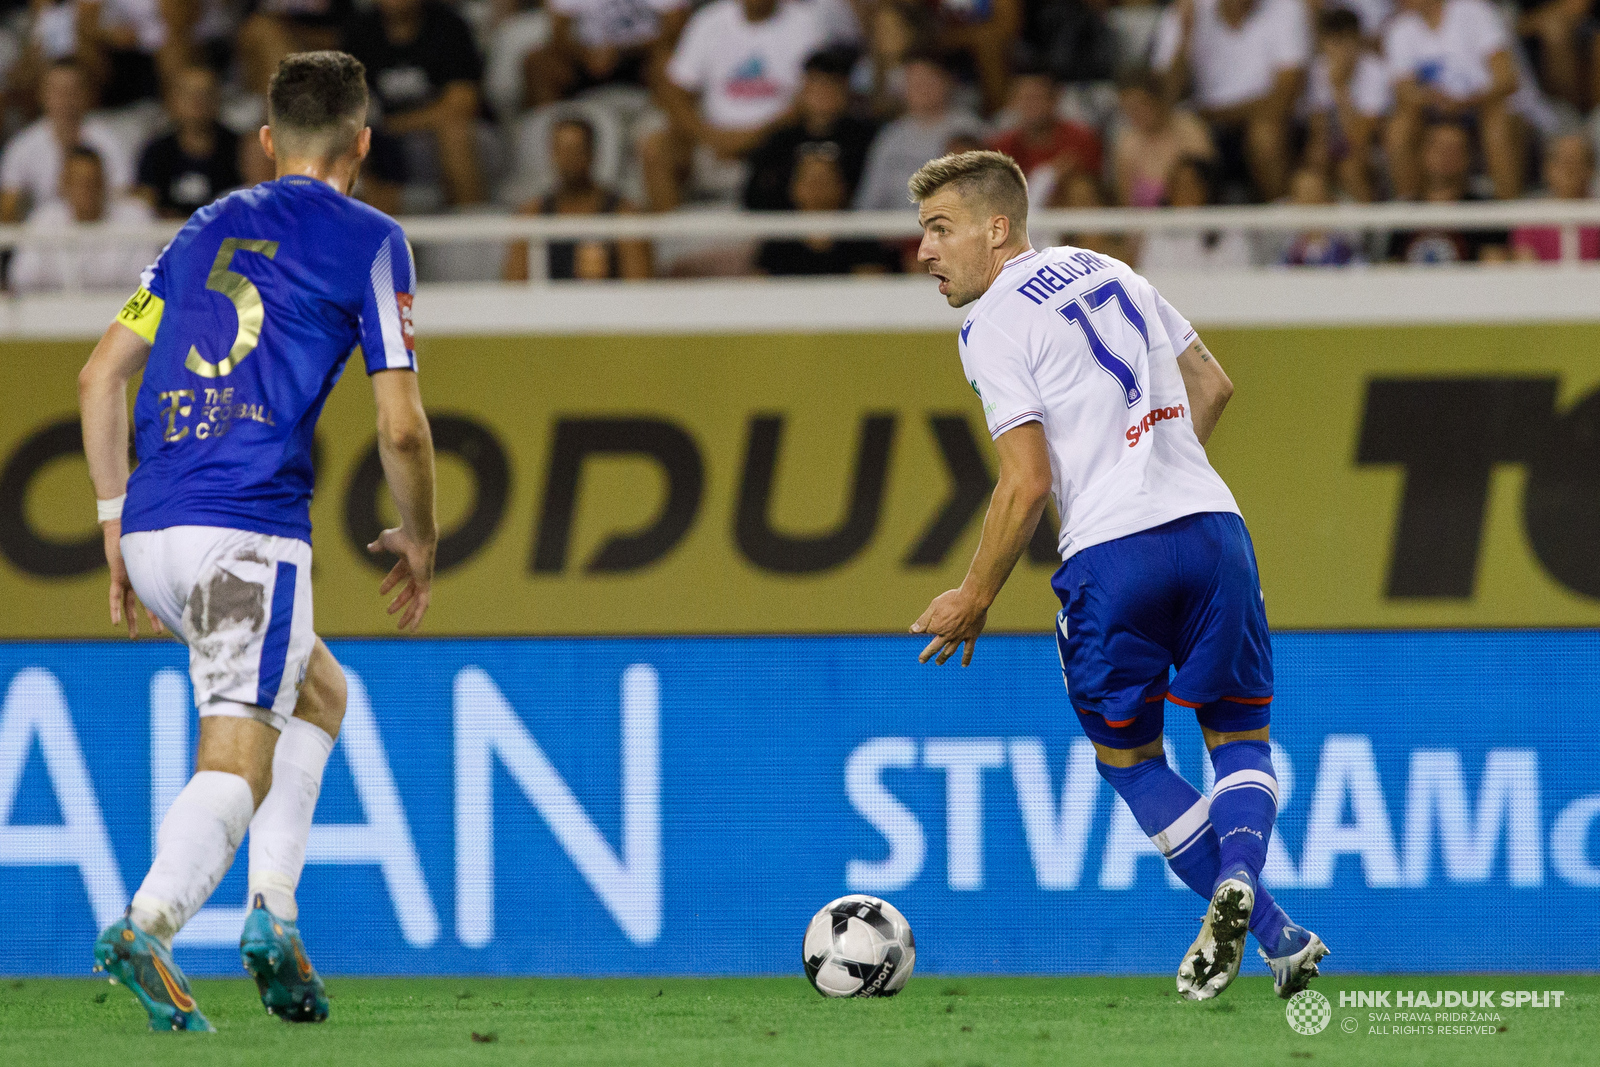
[[[962,326],[989,435],[1040,422],[1061,558],[1238,504],[1189,416],[1178,355],[1195,331],[1133,267],[1061,246],[1011,259]]]

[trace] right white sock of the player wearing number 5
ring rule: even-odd
[[[299,918],[294,889],[306,869],[306,838],[330,752],[328,731],[290,718],[272,753],[272,789],[250,822],[250,899],[259,893],[267,910],[288,923]]]

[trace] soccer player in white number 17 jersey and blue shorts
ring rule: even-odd
[[[966,579],[910,627],[931,637],[922,662],[957,651],[971,662],[989,605],[1053,496],[1069,699],[1101,776],[1173,872],[1210,899],[1178,989],[1190,1000],[1227,989],[1248,931],[1288,998],[1328,949],[1261,885],[1277,816],[1272,646],[1250,534],[1205,453],[1232,384],[1131,267],[1029,245],[1027,182],[1010,157],[933,160],[910,195],[918,259],[952,307],[971,306],[962,366],[1000,454]],[[1210,800],[1166,763],[1168,701],[1200,720],[1216,768]]]

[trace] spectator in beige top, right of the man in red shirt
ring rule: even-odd
[[[1112,147],[1117,202],[1157,208],[1166,202],[1166,178],[1181,158],[1214,160],[1211,131],[1194,112],[1166,102],[1160,80],[1136,70],[1118,85],[1122,114]]]

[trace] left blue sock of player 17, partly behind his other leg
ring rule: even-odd
[[[1208,821],[1208,801],[1200,790],[1168,766],[1165,757],[1133,766],[1109,766],[1096,760],[1094,768],[1128,803],[1134,822],[1162,849],[1173,873],[1210,901],[1222,869],[1221,845]],[[1256,886],[1256,907],[1250,913],[1250,929],[1272,950],[1290,917],[1259,878],[1253,877],[1251,881]]]

